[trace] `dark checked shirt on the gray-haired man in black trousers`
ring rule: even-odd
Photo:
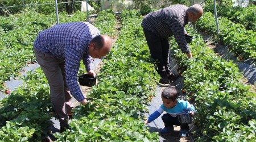
[[[184,27],[188,24],[187,9],[188,7],[184,5],[172,5],[150,12],[144,17],[142,27],[154,32],[161,38],[168,38],[174,35],[181,51],[183,53],[190,53],[184,36],[187,33]]]

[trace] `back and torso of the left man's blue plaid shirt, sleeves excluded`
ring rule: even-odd
[[[88,22],[57,24],[40,32],[34,42],[34,48],[38,51],[51,53],[58,59],[64,59],[65,52],[69,50],[84,52],[83,48],[87,48],[90,40],[97,35],[100,35],[100,31]]]

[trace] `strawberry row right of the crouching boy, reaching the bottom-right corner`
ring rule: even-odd
[[[191,29],[187,31],[195,34]],[[255,141],[251,133],[256,131],[256,94],[240,82],[242,74],[236,64],[221,59],[205,47],[201,36],[194,36],[196,38],[190,45],[195,59],[187,60],[173,39],[171,48],[177,62],[185,68],[183,89],[188,98],[196,98],[194,124],[203,133],[197,140]]]

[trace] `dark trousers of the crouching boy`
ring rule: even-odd
[[[176,125],[180,126],[180,129],[182,130],[189,130],[188,124],[181,124],[177,117],[174,118],[170,114],[164,114],[162,116],[162,120],[164,122],[165,127],[174,127],[174,125]]]

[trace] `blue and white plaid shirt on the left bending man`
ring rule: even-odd
[[[88,22],[64,23],[40,32],[34,42],[36,50],[65,60],[66,82],[71,94],[79,102],[85,99],[77,83],[80,61],[84,61],[87,71],[93,69],[88,45],[97,35],[100,35],[100,31]]]

